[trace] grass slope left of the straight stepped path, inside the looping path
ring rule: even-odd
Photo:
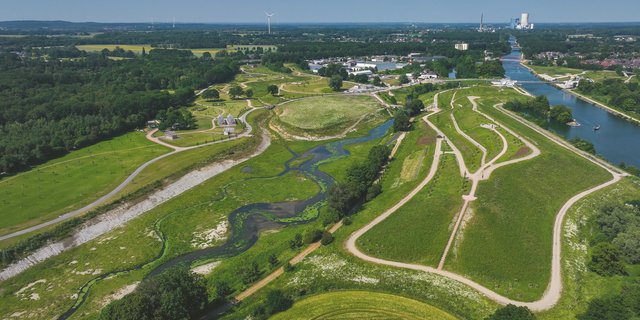
[[[358,239],[358,247],[387,260],[437,266],[449,240],[453,218],[462,207],[465,189],[456,159],[445,156],[434,180]]]

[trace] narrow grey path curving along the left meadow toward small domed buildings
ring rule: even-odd
[[[247,102],[247,104],[248,104],[250,107],[252,107],[252,105],[251,105],[251,102],[250,102],[250,101],[248,101],[248,102]],[[157,131],[157,129],[156,129],[156,130],[153,130],[153,131],[151,131],[151,132],[149,132],[149,133],[147,134],[147,136],[146,136],[146,137],[147,137],[147,139],[149,139],[150,141],[152,141],[152,142],[154,142],[154,143],[160,144],[160,145],[162,145],[162,146],[165,146],[165,147],[171,148],[171,149],[173,149],[173,151],[172,151],[172,152],[169,152],[169,153],[165,153],[165,154],[163,154],[163,155],[161,155],[161,156],[158,156],[158,157],[156,157],[156,158],[153,158],[153,159],[151,159],[151,160],[149,160],[149,161],[145,162],[145,163],[144,163],[144,164],[142,164],[140,167],[138,167],[135,171],[133,171],[133,173],[131,173],[131,174],[130,174],[130,175],[129,175],[129,176],[128,176],[128,177],[127,177],[127,178],[126,178],[122,183],[120,183],[120,185],[118,185],[115,189],[111,190],[109,193],[107,193],[106,195],[104,195],[104,196],[100,197],[100,198],[99,198],[99,199],[97,199],[96,201],[94,201],[94,202],[92,202],[92,203],[90,203],[90,204],[88,204],[88,205],[86,205],[86,206],[84,206],[84,207],[82,207],[82,208],[80,208],[80,209],[77,209],[77,210],[74,210],[74,211],[71,211],[71,212],[67,212],[67,213],[65,213],[65,214],[62,214],[62,215],[58,216],[58,217],[57,217],[57,218],[55,218],[55,219],[52,219],[52,220],[49,220],[49,221],[46,221],[46,222],[43,222],[43,223],[37,224],[37,225],[32,226],[32,227],[29,227],[29,228],[22,229],[22,230],[20,230],[20,231],[16,231],[16,232],[13,232],[13,233],[10,233],[10,234],[6,234],[6,235],[3,235],[3,236],[0,236],[0,241],[7,240],[7,239],[11,239],[11,238],[14,238],[14,237],[17,237],[17,236],[21,236],[21,235],[24,235],[24,234],[27,234],[27,233],[30,233],[30,232],[34,232],[34,231],[37,231],[37,230],[40,230],[40,229],[46,228],[46,227],[48,227],[48,226],[51,226],[51,225],[57,224],[57,223],[59,223],[59,222],[63,222],[63,221],[65,221],[65,220],[68,220],[68,219],[71,219],[71,218],[73,218],[73,217],[77,217],[77,216],[79,216],[79,215],[82,215],[82,214],[84,214],[84,213],[89,212],[90,210],[92,210],[92,209],[94,209],[94,208],[98,207],[100,204],[104,203],[106,200],[108,200],[108,199],[112,198],[113,196],[115,196],[116,194],[118,194],[120,191],[122,191],[122,190],[123,190],[127,185],[129,185],[129,183],[131,183],[131,181],[133,181],[133,179],[135,179],[135,177],[137,177],[137,176],[138,176],[138,175],[139,175],[139,174],[140,174],[144,169],[146,169],[148,166],[150,166],[150,165],[152,165],[153,163],[155,163],[155,162],[157,162],[157,161],[159,161],[159,160],[162,160],[162,159],[164,159],[164,158],[166,158],[166,157],[172,156],[172,155],[174,155],[174,154],[176,154],[176,153],[179,153],[179,152],[183,152],[183,151],[187,151],[187,150],[192,150],[192,149],[197,149],[197,148],[202,148],[202,147],[206,147],[206,146],[210,146],[210,145],[214,145],[214,144],[219,144],[219,143],[224,143],[224,142],[227,142],[227,141],[236,140],[236,139],[240,139],[240,138],[244,138],[244,137],[248,137],[248,136],[250,136],[250,135],[251,135],[251,132],[252,132],[252,130],[253,130],[253,128],[252,128],[252,127],[251,127],[251,125],[247,122],[247,116],[248,116],[251,112],[253,112],[253,111],[255,111],[255,110],[257,110],[257,108],[252,108],[251,110],[247,111],[246,113],[244,113],[244,114],[240,117],[240,120],[246,124],[246,126],[247,126],[247,130],[246,130],[245,132],[243,132],[243,133],[241,133],[241,134],[237,135],[236,137],[232,137],[232,138],[229,138],[229,139],[226,139],[226,140],[218,140],[218,141],[214,141],[214,142],[210,142],[210,143],[206,143],[206,144],[201,144],[201,145],[197,145],[197,146],[192,146],[192,147],[176,147],[176,146],[170,145],[170,144],[168,144],[168,143],[166,143],[166,142],[162,141],[161,139],[158,139],[158,138],[153,137],[153,134]]]

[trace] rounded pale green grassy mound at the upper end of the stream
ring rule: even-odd
[[[369,96],[326,96],[293,101],[276,110],[279,122],[294,133],[338,134],[380,108]]]

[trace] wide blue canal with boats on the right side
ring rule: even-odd
[[[512,44],[515,38],[511,39]],[[517,81],[539,81],[539,79],[520,65],[520,49],[503,57],[506,76]],[[580,137],[587,140],[601,155],[612,164],[624,162],[640,168],[640,126],[616,116],[590,102],[563,91],[548,83],[523,83],[522,88],[535,96],[547,96],[551,105],[565,105],[571,108],[573,117],[581,124],[570,127],[560,123],[550,122],[547,129],[565,137],[573,139]],[[595,126],[600,130],[594,131]]]

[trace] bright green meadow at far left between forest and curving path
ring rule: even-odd
[[[0,180],[0,234],[81,208],[169,149],[130,133]],[[47,199],[47,201],[43,201]]]

